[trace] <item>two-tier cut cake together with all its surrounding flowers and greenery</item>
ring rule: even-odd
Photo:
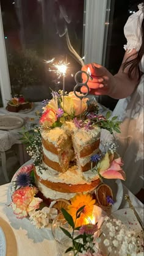
[[[44,214],[46,218],[53,208],[68,207],[77,196],[93,198],[104,209],[111,207],[112,190],[102,179],[124,180],[123,162],[113,143],[105,152],[99,150],[99,143],[101,128],[111,134],[119,131],[117,117],[110,120],[109,112],[106,117],[99,115],[95,99],[81,95],[80,100],[74,92],[64,96],[52,92],[52,99],[43,104],[40,126],[25,131],[21,138],[28,144],[33,164],[22,167],[12,181],[10,205],[16,217],[29,214],[37,219],[37,214]],[[42,201],[51,210],[35,211]]]

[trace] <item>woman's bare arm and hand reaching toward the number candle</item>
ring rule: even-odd
[[[123,63],[126,62],[126,59],[134,59],[137,52],[135,49],[131,53],[124,54]],[[122,70],[122,65],[117,75],[113,76],[105,67],[99,64],[87,64],[82,67],[82,70],[87,71],[88,67],[92,72],[93,80],[88,80],[87,84],[90,88],[90,93],[94,95],[109,95],[112,98],[120,99],[126,98],[134,92],[137,84],[139,83],[138,74],[133,75],[132,79],[128,76],[128,67]],[[83,77],[84,79],[84,77]],[[85,88],[82,87],[82,92],[85,92]]]

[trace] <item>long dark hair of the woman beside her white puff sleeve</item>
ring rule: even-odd
[[[144,7],[143,7],[142,10],[144,12]],[[122,70],[123,71],[126,67],[129,67],[128,76],[129,76],[130,79],[132,79],[137,74],[138,74],[138,80],[142,76],[142,71],[140,71],[139,63],[140,63],[140,60],[142,59],[143,53],[144,53],[144,18],[143,18],[143,21],[142,21],[142,26],[141,26],[140,32],[141,32],[141,35],[142,35],[142,45],[140,46],[140,49],[137,53],[137,56],[132,60],[129,60],[129,57],[128,57],[128,59],[126,59],[126,62],[124,62],[123,65],[122,65]]]

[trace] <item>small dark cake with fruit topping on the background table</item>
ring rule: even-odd
[[[7,111],[10,112],[23,112],[28,111],[32,108],[32,103],[27,101],[23,95],[15,95],[9,102],[7,103]]]

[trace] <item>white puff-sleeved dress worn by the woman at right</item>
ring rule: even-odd
[[[141,7],[138,12],[129,16],[124,26],[124,35],[127,38],[127,45],[124,45],[124,49],[128,49],[129,52],[134,48],[139,51],[142,43],[140,35],[142,20],[143,10]],[[144,71],[143,60],[142,58],[140,63],[142,72]],[[112,116],[115,115],[122,121],[121,133],[115,134],[115,137],[118,153],[124,161],[123,169],[126,172],[124,185],[137,194],[143,187],[143,75],[135,92],[128,98],[118,101]],[[105,134],[104,137],[104,141],[109,141],[109,135]]]

